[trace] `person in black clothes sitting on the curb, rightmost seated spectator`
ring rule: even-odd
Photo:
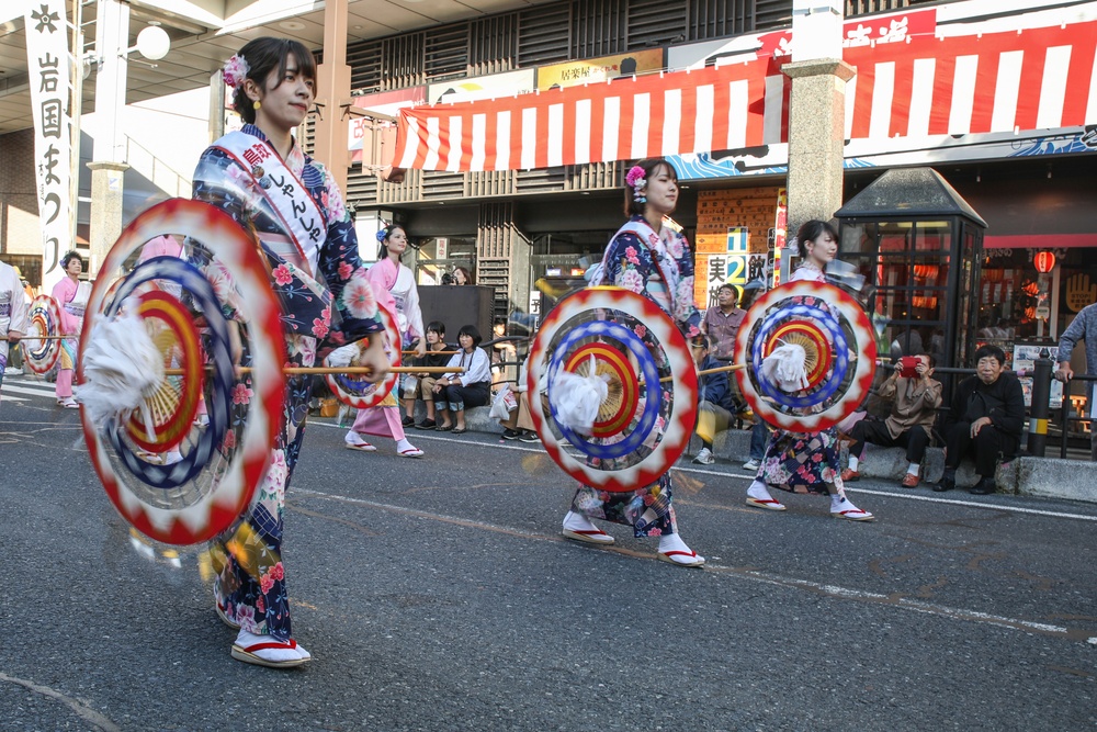
[[[1025,392],[1005,363],[1006,354],[997,346],[975,351],[975,375],[960,382],[945,416],[945,475],[935,492],[954,488],[960,461],[973,453],[980,478],[969,493],[994,493],[998,460],[1009,462],[1017,455],[1025,427]]]

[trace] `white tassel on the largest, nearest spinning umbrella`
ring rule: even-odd
[[[98,315],[81,362],[83,383],[75,390],[76,399],[92,424],[126,418],[139,408],[151,436],[152,415],[145,399],[163,381],[163,357],[136,311],[123,306],[114,318]]]

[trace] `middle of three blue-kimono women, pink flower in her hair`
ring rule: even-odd
[[[629,222],[613,236],[591,284],[613,284],[640,293],[666,312],[687,339],[701,333],[693,306],[693,255],[689,243],[664,223],[678,203],[678,178],[663,158],[641,160],[625,178]],[[649,337],[645,338],[645,341]],[[649,344],[654,348],[654,342]],[[659,559],[679,566],[701,566],[704,558],[678,536],[667,472],[653,485],[609,493],[584,485],[564,517],[564,536],[592,544],[612,544],[613,537],[591,518],[624,523],[636,537],[659,537]]]

